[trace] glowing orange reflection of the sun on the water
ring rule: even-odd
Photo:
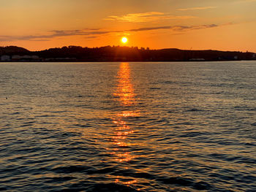
[[[121,107],[125,107],[125,109],[132,108],[136,105],[136,98],[130,77],[129,63],[120,64],[117,79],[118,85],[116,91],[113,93],[113,96],[118,99]],[[118,112],[116,116],[113,117],[113,123],[116,124],[113,136],[113,143],[116,145],[116,147],[114,148],[113,155],[118,163],[127,163],[135,158],[135,155],[132,155],[129,150],[124,150],[129,147],[129,145],[132,145],[129,142],[129,135],[135,131],[129,125],[127,125],[125,119],[136,117],[138,115],[140,115],[140,111],[138,110],[124,110]],[[137,180],[121,182],[118,178],[116,178],[116,183],[122,183],[124,185],[130,185],[136,182]]]

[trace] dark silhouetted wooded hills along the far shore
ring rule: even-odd
[[[13,51],[10,51],[13,50]],[[138,47],[69,46],[29,51],[21,47],[0,47],[0,55],[37,55],[39,61],[234,61],[256,59],[255,53],[218,50],[149,50]]]

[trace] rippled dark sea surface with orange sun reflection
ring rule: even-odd
[[[256,191],[256,61],[0,64],[0,191]]]

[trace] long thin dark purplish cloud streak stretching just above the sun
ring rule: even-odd
[[[178,32],[194,31],[206,28],[216,28],[219,26],[232,25],[233,23],[225,23],[221,25],[217,24],[206,24],[199,26],[155,26],[155,27],[146,27],[146,28],[130,28],[127,30],[116,30],[110,31],[107,29],[86,29],[86,30],[56,30],[50,31],[50,34],[45,35],[27,35],[27,36],[0,36],[0,41],[2,42],[12,42],[17,40],[25,41],[49,41],[58,37],[72,37],[72,36],[81,36],[85,38],[97,38],[106,34],[127,34],[127,33],[136,33],[140,31],[153,31],[153,30],[171,30]],[[48,32],[49,33],[49,32]]]

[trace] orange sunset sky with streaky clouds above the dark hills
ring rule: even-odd
[[[256,0],[0,0],[0,46],[256,52]]]

